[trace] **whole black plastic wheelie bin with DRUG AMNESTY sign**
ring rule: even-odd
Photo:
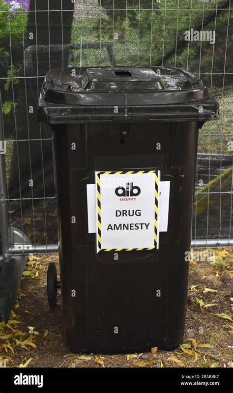
[[[198,132],[218,119],[200,79],[163,67],[50,70],[65,333],[75,352],[183,340]],[[52,264],[48,298],[56,305]]]

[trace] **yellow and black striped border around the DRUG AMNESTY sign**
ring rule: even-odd
[[[139,174],[154,173],[154,246],[139,249],[102,249],[101,248],[101,175]],[[158,205],[159,205],[159,170],[118,170],[118,171],[96,171],[97,183],[97,253],[100,251],[142,251],[158,249]]]

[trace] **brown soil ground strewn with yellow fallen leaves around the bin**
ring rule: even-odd
[[[233,366],[233,249],[218,249],[216,255],[215,264],[190,263],[186,336],[182,348],[173,352],[155,348],[154,353],[128,355],[71,353],[63,334],[60,295],[55,310],[51,311],[47,303],[47,266],[49,261],[56,261],[58,265],[58,255],[30,256],[26,272],[31,274],[26,273],[28,276],[22,280],[12,312],[13,322],[0,325],[0,361],[6,362],[8,367],[25,365],[29,359],[28,367]],[[214,292],[204,293],[205,288]],[[207,345],[200,346],[203,344]]]

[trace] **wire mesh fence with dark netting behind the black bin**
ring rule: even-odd
[[[0,0],[0,88],[9,225],[57,243],[45,73],[66,66],[175,66],[201,78],[220,120],[200,130],[193,239],[233,238],[231,0]],[[207,243],[206,243],[207,244]]]

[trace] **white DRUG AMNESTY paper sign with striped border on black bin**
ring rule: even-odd
[[[158,248],[159,175],[96,172],[97,252]]]

